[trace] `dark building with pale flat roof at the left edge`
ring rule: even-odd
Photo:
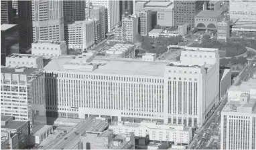
[[[18,25],[1,25],[1,65],[5,65],[5,59],[12,53],[19,53],[19,49],[13,49],[13,45],[19,43]]]

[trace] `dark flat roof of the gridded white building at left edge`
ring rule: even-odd
[[[1,73],[11,73],[11,74],[21,74],[21,75],[33,75],[37,73],[37,68],[28,68],[28,67],[1,67]]]

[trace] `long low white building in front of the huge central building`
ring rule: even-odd
[[[152,141],[172,141],[174,144],[189,144],[192,140],[192,128],[184,125],[141,121],[141,123],[120,122],[110,125],[115,135],[133,132],[136,137],[147,137]]]

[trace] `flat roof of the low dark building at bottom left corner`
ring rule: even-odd
[[[2,125],[2,121],[8,122],[5,123],[5,125]],[[27,121],[15,121],[12,119],[12,116],[1,115],[1,129],[19,129],[19,127],[21,127],[25,123],[27,123]]]

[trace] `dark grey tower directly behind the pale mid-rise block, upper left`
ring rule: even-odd
[[[85,5],[85,1],[82,0],[63,1],[64,20],[83,21]]]

